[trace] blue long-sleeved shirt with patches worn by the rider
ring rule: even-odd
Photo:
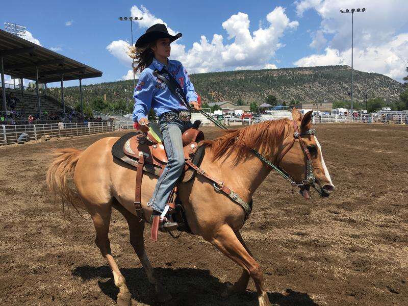
[[[179,61],[168,61],[167,71],[179,82],[187,96],[187,103],[197,100],[197,94],[193,84],[190,82],[187,70]],[[156,58],[146,67],[139,77],[133,97],[135,106],[133,108],[133,121],[138,122],[141,118],[147,118],[151,108],[157,116],[169,111],[182,111],[187,108],[177,99],[167,87],[166,83],[153,75],[155,69],[161,71],[164,65]],[[165,76],[165,75],[164,75]]]

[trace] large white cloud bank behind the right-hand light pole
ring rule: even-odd
[[[312,9],[322,18],[310,46],[319,49],[328,45],[324,54],[303,57],[295,65],[350,65],[351,14],[340,10],[366,8],[365,12],[354,13],[354,67],[402,81],[408,59],[408,33],[403,32],[408,1],[301,0],[295,5],[298,16]],[[333,38],[325,43],[324,34]]]

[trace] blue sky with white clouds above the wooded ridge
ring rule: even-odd
[[[355,69],[401,81],[408,66],[405,0],[20,1],[2,7],[0,22],[2,29],[5,21],[23,24],[28,39],[103,71],[103,77],[83,81],[90,84],[130,78],[131,60],[124,54],[130,21],[119,16],[144,16],[133,23],[134,40],[158,20],[182,32],[171,58],[194,73],[350,65],[351,14],[339,9],[358,5],[367,11],[354,14]],[[72,85],[78,82],[65,84]]]

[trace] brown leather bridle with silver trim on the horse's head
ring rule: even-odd
[[[285,150],[282,152],[281,157],[279,157],[278,161],[277,161],[277,167],[272,164],[270,161],[268,161],[265,157],[263,157],[261,154],[259,154],[259,152],[255,149],[251,149],[251,151],[253,152],[253,154],[255,154],[261,161],[263,161],[264,163],[266,163],[268,166],[270,166],[272,169],[274,169],[277,173],[279,173],[285,180],[287,180],[292,186],[297,186],[299,188],[302,187],[307,187],[307,186],[311,186],[316,182],[316,177],[315,174],[313,173],[313,164],[312,164],[312,157],[310,156],[310,151],[309,149],[306,147],[306,145],[304,144],[302,138],[300,136],[303,135],[315,135],[316,134],[316,130],[311,129],[308,131],[305,131],[303,133],[299,132],[299,129],[297,127],[297,123],[296,120],[293,120],[293,127],[295,129],[295,132],[293,133],[293,140],[291,142],[290,145],[288,145]],[[304,154],[307,157],[307,166],[306,166],[306,175],[305,175],[305,179],[300,181],[300,182],[296,182],[295,180],[292,179],[292,176],[290,176],[288,174],[288,172],[286,172],[284,169],[282,169],[279,164],[281,163],[282,159],[284,158],[284,156],[287,154],[287,152],[289,152],[289,150],[293,147],[296,139],[299,140],[300,146],[304,152]]]

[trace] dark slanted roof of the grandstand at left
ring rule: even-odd
[[[28,40],[0,30],[0,56],[4,73],[13,78],[36,80],[39,83],[101,77],[102,72]]]

